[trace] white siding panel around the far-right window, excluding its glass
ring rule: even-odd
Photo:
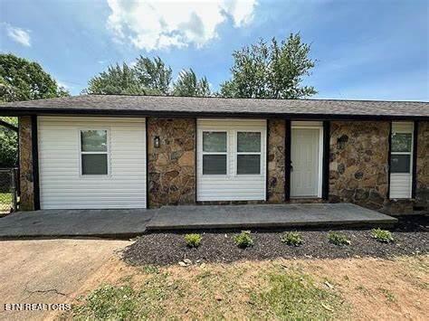
[[[396,133],[411,134],[411,149],[409,152],[397,153],[391,151],[390,158],[394,155],[409,155],[410,165],[408,173],[390,173],[390,198],[411,198],[413,184],[413,140],[414,124],[412,122],[393,122],[392,135]],[[390,165],[391,166],[391,165]],[[391,167],[392,168],[392,167]]]

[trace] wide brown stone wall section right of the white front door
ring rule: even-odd
[[[351,202],[379,210],[387,196],[390,124],[332,121],[329,202]]]

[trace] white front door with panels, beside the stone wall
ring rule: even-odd
[[[291,197],[319,196],[320,128],[291,128]]]

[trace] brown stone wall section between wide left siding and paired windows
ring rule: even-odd
[[[148,118],[147,130],[149,207],[195,203],[195,119]]]

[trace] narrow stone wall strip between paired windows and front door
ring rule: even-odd
[[[284,203],[284,119],[268,120],[268,203]]]

